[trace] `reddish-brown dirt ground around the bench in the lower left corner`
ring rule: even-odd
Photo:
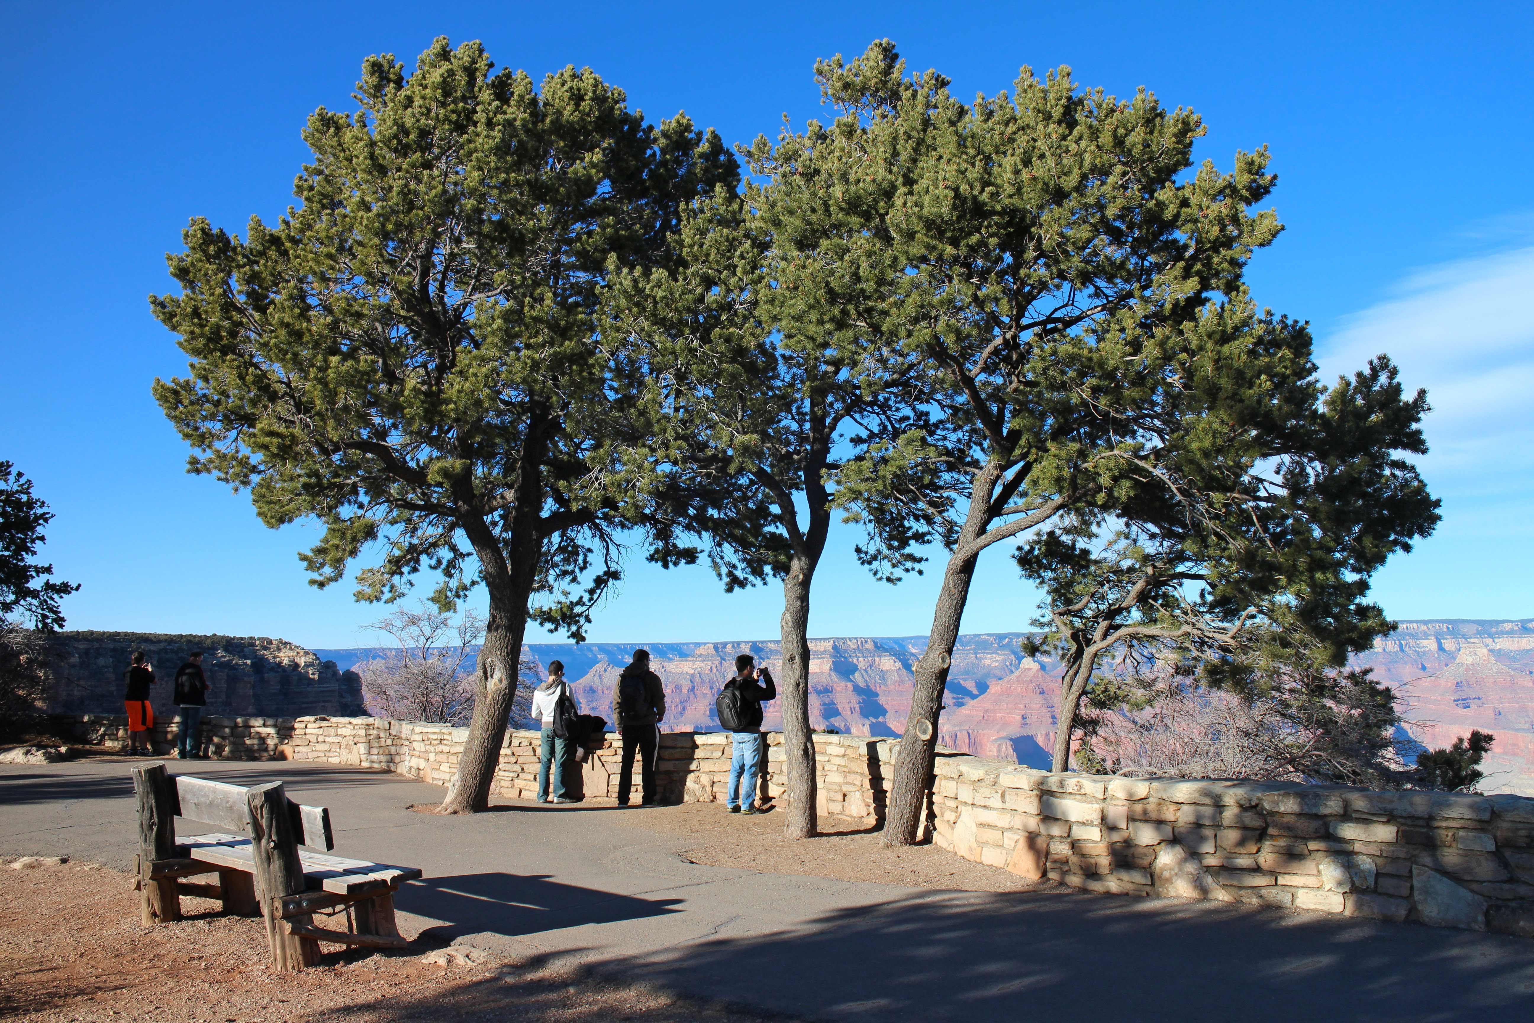
[[[132,879],[94,863],[0,865],[0,1018],[26,1021],[747,1023],[765,1017],[615,985],[537,962],[431,965],[410,952],[337,952],[270,969],[259,920],[183,897],[186,920],[144,928]],[[414,937],[407,933],[407,937]],[[334,946],[325,946],[334,948]],[[772,1017],[781,1018],[781,1017]]]

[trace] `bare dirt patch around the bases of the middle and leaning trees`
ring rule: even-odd
[[[744,867],[764,874],[802,874],[838,880],[871,880],[910,888],[959,891],[1074,891],[1052,882],[1029,882],[996,867],[959,859],[931,844],[887,848],[884,834],[861,821],[821,817],[818,837],[782,836],[784,813],[742,816],[724,804],[632,808],[618,814],[627,827],[686,837],[686,856],[709,867]]]

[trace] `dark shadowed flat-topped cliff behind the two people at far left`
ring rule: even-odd
[[[60,632],[51,664],[52,713],[123,713],[123,673],[133,650],[144,650],[156,684],[150,704],[173,715],[176,669],[202,650],[202,673],[212,689],[207,712],[225,716],[296,718],[360,715],[362,681],[334,661],[285,640],[196,636],[149,632]]]

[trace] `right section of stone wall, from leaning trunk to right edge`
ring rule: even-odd
[[[933,842],[1023,877],[1534,937],[1534,799],[940,756]]]

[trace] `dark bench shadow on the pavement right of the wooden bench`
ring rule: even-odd
[[[407,913],[443,920],[420,933],[431,942],[465,934],[518,937],[542,931],[618,923],[680,913],[681,899],[638,899],[597,888],[549,880],[548,874],[457,874],[423,877],[400,885],[394,905]]]

